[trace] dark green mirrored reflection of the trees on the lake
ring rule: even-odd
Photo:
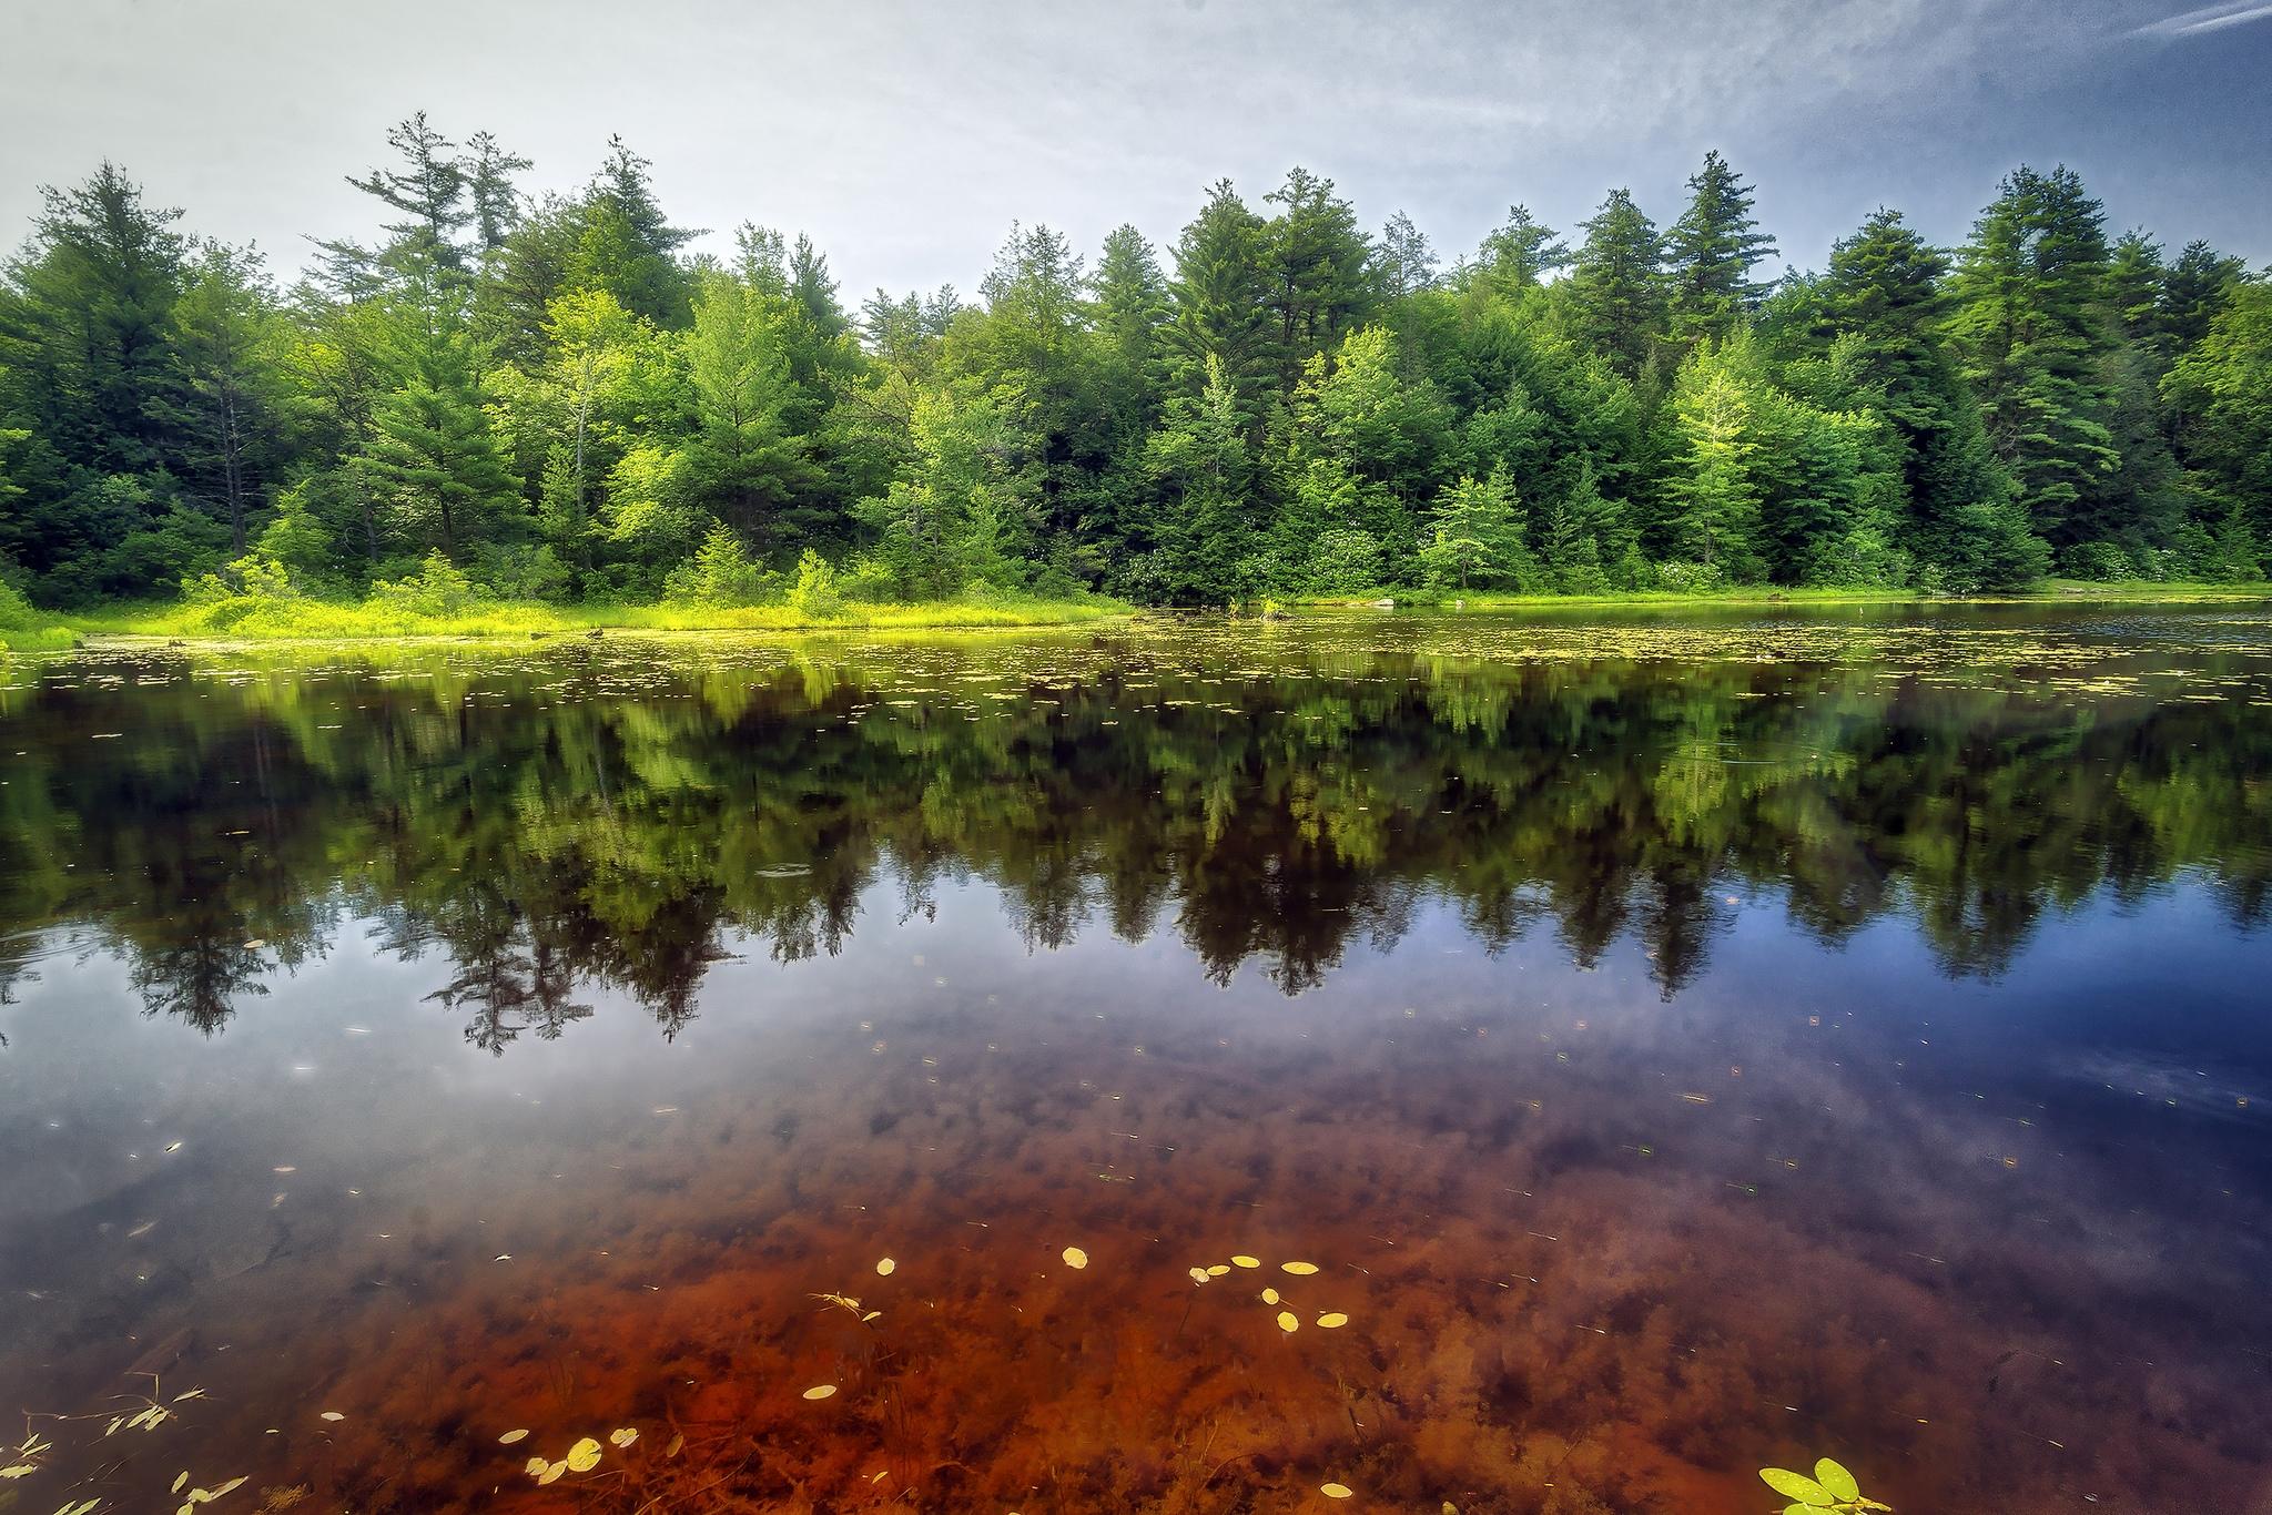
[[[1593,963],[1631,934],[1665,993],[1738,884],[1829,940],[1897,913],[1952,972],[2102,890],[2192,868],[2256,922],[2272,886],[2272,720],[2242,700],[1409,656],[173,672],[9,713],[0,931],[91,920],[207,1031],[345,915],[445,954],[434,999],[502,1049],[593,988],[677,1031],[725,943],[841,952],[879,879],[925,909],[984,877],[1031,947],[1166,924],[1286,990],[1440,897],[1490,947],[1552,922]]]

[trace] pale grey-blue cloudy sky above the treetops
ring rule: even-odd
[[[109,157],[298,268],[425,109],[575,189],[609,132],[666,209],[811,232],[847,300],[975,288],[1013,218],[1175,238],[1302,164],[1438,252],[1611,186],[1661,225],[1720,148],[1799,266],[1877,204],[1961,241],[2015,164],[2115,229],[2272,261],[2272,5],[2161,0],[0,0],[0,243]]]

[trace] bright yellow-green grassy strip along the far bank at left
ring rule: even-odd
[[[377,602],[264,600],[214,616],[193,604],[118,604],[70,616],[86,636],[164,636],[182,641],[364,641],[364,638],[529,638],[593,629],[623,631],[863,631],[988,629],[1084,625],[1127,616],[1116,600],[941,600],[922,604],[845,604],[834,616],[804,616],[782,604],[532,604],[491,602],[427,616]]]

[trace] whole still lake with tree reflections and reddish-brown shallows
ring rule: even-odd
[[[2258,609],[0,675],[0,1510],[2272,1508]]]

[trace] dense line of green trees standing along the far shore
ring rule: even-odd
[[[1450,263],[1295,168],[1166,250],[1018,225],[975,302],[852,311],[804,236],[691,254],[623,141],[566,198],[425,116],[391,150],[350,177],[379,238],[291,288],[116,166],[45,191],[0,282],[0,575],[1220,604],[2256,579],[2272,543],[2272,284],[2111,236],[2065,168],[1954,252],[1877,211],[1781,279],[1718,152],[1663,229],[1513,207]]]

